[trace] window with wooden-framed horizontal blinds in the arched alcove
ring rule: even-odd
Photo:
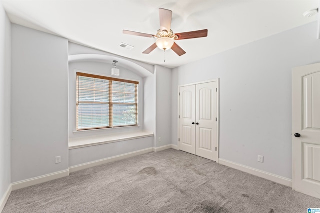
[[[76,73],[76,130],[138,124],[138,82]]]

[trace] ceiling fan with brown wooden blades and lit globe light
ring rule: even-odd
[[[155,43],[149,46],[142,53],[148,54],[156,47],[164,51],[171,48],[179,56],[183,55],[185,51],[180,46],[178,46],[174,42],[174,40],[199,38],[199,37],[207,36],[207,32],[208,32],[207,29],[190,31],[190,32],[173,33],[173,31],[170,29],[171,17],[172,17],[171,10],[159,8],[160,29],[156,32],[155,35],[142,33],[142,32],[134,32],[134,31],[129,31],[125,29],[123,29],[122,32],[124,34],[156,38]]]

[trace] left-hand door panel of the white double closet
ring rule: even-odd
[[[179,149],[195,154],[195,85],[179,87]]]

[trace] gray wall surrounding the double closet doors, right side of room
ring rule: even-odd
[[[172,143],[177,86],[219,78],[219,157],[290,179],[291,68],[320,61],[316,29],[312,22],[174,68]]]

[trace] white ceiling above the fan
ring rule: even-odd
[[[11,22],[50,32],[89,47],[149,64],[176,67],[316,20],[302,13],[318,0],[2,0]],[[158,8],[172,10],[173,32],[208,29],[208,36],[177,40],[186,51],[156,48],[155,39],[122,34],[122,29],[155,34]],[[314,34],[316,37],[316,34]],[[123,42],[134,46],[128,50]]]

